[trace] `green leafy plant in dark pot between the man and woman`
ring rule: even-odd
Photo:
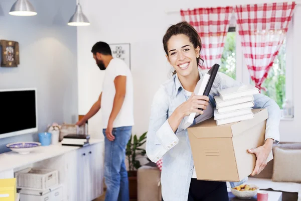
[[[141,167],[140,161],[137,160],[137,156],[144,156],[146,154],[145,149],[141,146],[146,142],[146,134],[143,133],[139,138],[136,135],[130,136],[130,139],[126,145],[126,157],[128,160],[128,187],[130,199],[137,199],[137,169]]]

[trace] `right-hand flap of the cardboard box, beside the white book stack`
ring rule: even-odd
[[[240,121],[231,125],[233,137],[252,128],[268,118],[267,109],[252,109],[253,119]]]

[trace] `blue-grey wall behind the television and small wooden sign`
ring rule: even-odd
[[[75,11],[76,1],[31,0],[38,12],[34,17],[9,15],[14,2],[0,2],[0,39],[19,42],[20,65],[0,67],[0,88],[38,89],[39,132],[45,132],[52,122],[75,123],[78,115],[77,31],[67,26],[67,22]],[[12,120],[12,123],[18,122]],[[37,133],[1,139],[0,153],[9,151],[5,147],[8,143],[32,140],[38,141]]]

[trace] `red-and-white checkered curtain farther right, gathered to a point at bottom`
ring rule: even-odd
[[[259,89],[264,89],[261,84],[283,43],[294,7],[294,2],[235,7],[243,56]]]

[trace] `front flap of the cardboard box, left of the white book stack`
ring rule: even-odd
[[[187,128],[187,130],[196,138],[231,138],[231,125],[233,124],[234,123],[217,126],[216,121],[213,118],[210,118]]]

